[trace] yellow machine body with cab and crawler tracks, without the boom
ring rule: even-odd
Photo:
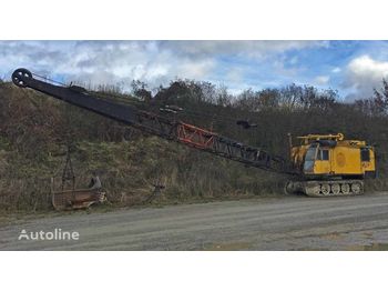
[[[285,190],[312,197],[364,193],[364,179],[376,178],[372,147],[360,140],[345,140],[344,134],[308,134],[290,141],[290,160],[302,177],[289,181]]]

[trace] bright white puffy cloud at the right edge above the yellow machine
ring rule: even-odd
[[[374,88],[379,89],[382,78],[387,77],[388,61],[378,61],[368,54],[353,59],[346,68],[343,83],[344,88],[353,90],[353,93],[347,99],[371,97]]]

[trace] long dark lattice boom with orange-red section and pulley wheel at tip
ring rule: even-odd
[[[14,84],[31,88],[53,98],[86,109],[109,119],[123,122],[144,132],[203,150],[263,170],[292,173],[285,159],[268,152],[245,146],[182,121],[170,120],[155,113],[139,110],[135,107],[102,99],[80,87],[55,86],[33,78],[25,69],[12,74]]]

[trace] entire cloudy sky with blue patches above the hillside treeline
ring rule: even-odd
[[[156,88],[176,78],[232,93],[289,83],[368,98],[388,77],[387,41],[0,41],[0,77],[17,68],[59,81]]]

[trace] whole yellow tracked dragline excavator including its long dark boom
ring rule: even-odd
[[[364,180],[376,178],[374,148],[365,141],[345,140],[341,133],[298,137],[297,146],[293,146],[289,137],[290,154],[285,159],[180,120],[101,98],[78,86],[54,84],[27,69],[16,70],[12,81],[18,87],[43,92],[160,138],[249,167],[288,174],[287,192],[310,197],[361,194]]]

